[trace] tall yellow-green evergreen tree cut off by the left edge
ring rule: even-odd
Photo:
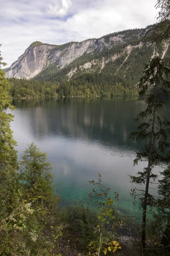
[[[1,45],[0,45],[1,46]],[[6,65],[0,54],[0,67]],[[13,115],[6,109],[13,109],[9,98],[10,86],[5,73],[0,68],[0,220],[12,211],[12,205],[17,204],[17,183],[13,184],[16,175],[17,151],[16,142],[10,128]]]

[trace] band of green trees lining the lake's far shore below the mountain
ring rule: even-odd
[[[26,79],[8,79],[11,85],[10,95],[13,98],[34,97],[94,97],[94,96],[134,96],[138,95],[135,87],[124,87],[121,83],[105,76],[84,73],[77,79],[64,80],[59,84],[54,82],[35,81]]]

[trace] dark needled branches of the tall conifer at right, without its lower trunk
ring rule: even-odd
[[[140,119],[145,121],[138,126],[138,131],[131,133],[130,137],[136,140],[150,140],[152,138],[152,168],[162,161],[166,161],[166,158],[164,159],[160,152],[165,153],[166,148],[169,147],[167,134],[170,132],[170,122],[161,115],[163,105],[170,93],[169,74],[170,69],[165,67],[157,56],[146,65],[145,75],[138,84],[139,96],[144,96],[147,93],[149,95],[146,98],[147,108],[136,117],[137,122]],[[142,152],[137,153],[134,164],[138,161],[148,160],[149,152],[150,143],[145,146]],[[135,181],[137,182],[137,179]],[[144,183],[145,178],[144,180],[139,180],[139,183],[141,182]]]

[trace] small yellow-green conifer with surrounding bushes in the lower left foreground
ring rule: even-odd
[[[1,172],[1,255],[53,255],[58,250],[60,198],[54,193],[46,159],[47,154],[31,143],[21,156],[18,172]]]

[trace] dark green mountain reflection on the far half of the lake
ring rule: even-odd
[[[144,101],[116,99],[37,99],[14,101],[29,120],[32,137],[42,140],[64,136],[95,140],[105,146],[136,149],[129,133],[136,129],[133,119],[145,107]]]

